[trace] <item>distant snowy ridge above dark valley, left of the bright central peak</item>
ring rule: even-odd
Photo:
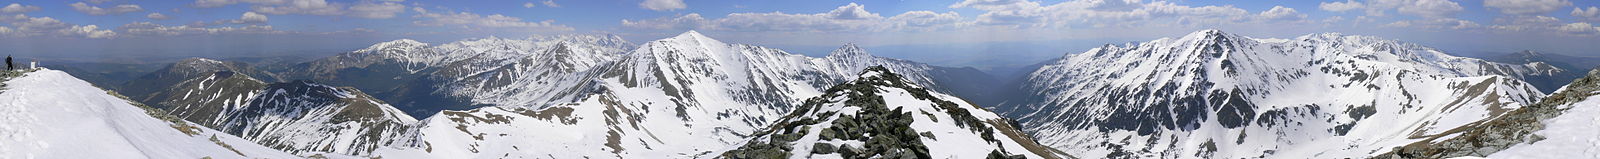
[[[366,90],[413,116],[430,116],[440,109],[542,101],[538,96],[544,95],[518,92],[544,93],[560,84],[554,79],[574,75],[565,69],[584,71],[632,47],[616,35],[486,37],[443,45],[395,40],[298,64],[288,74]],[[541,64],[554,58],[570,66]]]

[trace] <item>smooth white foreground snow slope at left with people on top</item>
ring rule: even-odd
[[[0,157],[298,157],[131,103],[61,71],[10,79],[0,90]]]

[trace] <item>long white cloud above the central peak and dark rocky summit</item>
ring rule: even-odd
[[[883,32],[883,31],[930,31],[960,22],[957,13],[907,11],[891,18],[883,18],[867,11],[859,3],[848,3],[827,13],[790,14],[790,13],[730,13],[720,19],[706,19],[701,14],[682,14],[674,18],[656,18],[630,21],[622,19],[624,27],[634,29],[702,29],[702,31],[739,31],[739,32]]]

